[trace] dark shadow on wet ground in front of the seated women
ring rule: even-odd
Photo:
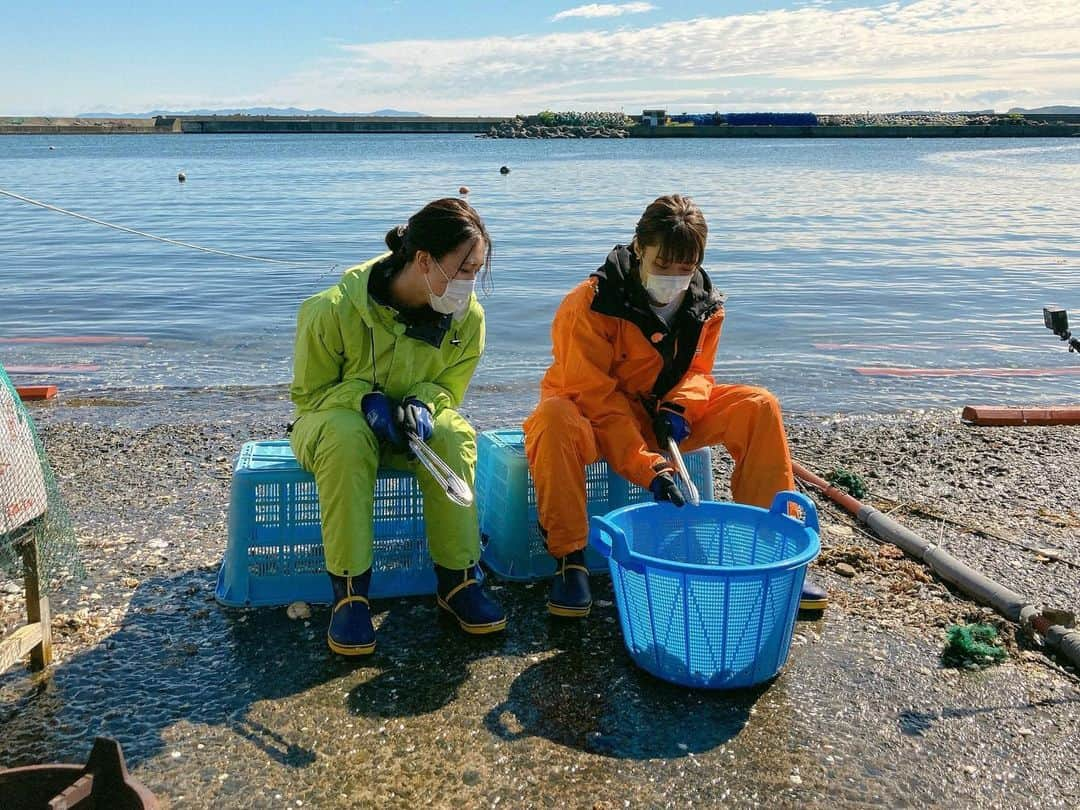
[[[325,608],[307,625],[282,609],[222,609],[213,582],[207,569],[145,580],[120,629],[95,647],[44,676],[0,677],[0,764],[81,761],[104,734],[136,767],[173,744],[165,731],[186,721],[229,728],[270,759],[303,768],[319,756],[293,741],[303,735],[252,710],[309,691],[303,711],[314,702],[327,724],[431,714],[434,735],[440,713],[457,700],[447,711],[483,716],[497,739],[677,758],[731,739],[764,692],[694,692],[638,671],[622,648],[607,582],[597,589],[603,607],[580,623],[549,618],[542,588],[498,588],[511,625],[492,637],[462,636],[436,618],[430,598],[377,602],[379,646],[357,661],[326,649]],[[485,676],[473,674],[476,666]],[[345,692],[318,691],[341,679]],[[342,694],[343,706],[333,705]],[[197,731],[168,739],[184,733]]]

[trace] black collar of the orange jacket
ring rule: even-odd
[[[625,245],[616,245],[608,254],[604,266],[592,275],[597,279],[596,297],[592,309],[602,315],[612,315],[630,321],[642,334],[650,338],[659,332],[666,335],[667,324],[659,318],[649,306],[649,294],[642,284],[642,265]],[[672,326],[678,326],[680,321],[689,319],[697,324],[703,324],[717,311],[724,308],[724,294],[713,287],[713,282],[703,269],[698,269],[690,280],[690,287],[678,308]],[[673,328],[674,330],[674,328]],[[658,351],[660,346],[656,345]]]

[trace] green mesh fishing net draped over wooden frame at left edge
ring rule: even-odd
[[[0,582],[22,583],[23,550],[38,544],[44,590],[82,577],[75,527],[26,406],[0,365]]]

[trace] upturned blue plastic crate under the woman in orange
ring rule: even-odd
[[[491,430],[476,440],[476,508],[483,559],[502,579],[531,581],[555,573],[537,526],[537,498],[525,458],[521,430]],[[702,498],[713,494],[713,454],[705,447],[684,455],[690,477]],[[651,501],[648,489],[631,484],[598,461],[585,468],[585,498],[590,515]],[[607,561],[585,549],[585,564],[594,573],[608,570]]]

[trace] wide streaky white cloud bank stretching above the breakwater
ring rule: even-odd
[[[184,104],[393,107],[430,114],[1080,104],[1075,0],[813,4],[638,28],[603,25],[519,37],[341,45],[337,56],[261,93],[243,99],[189,97]],[[159,96],[123,106],[178,105]]]

